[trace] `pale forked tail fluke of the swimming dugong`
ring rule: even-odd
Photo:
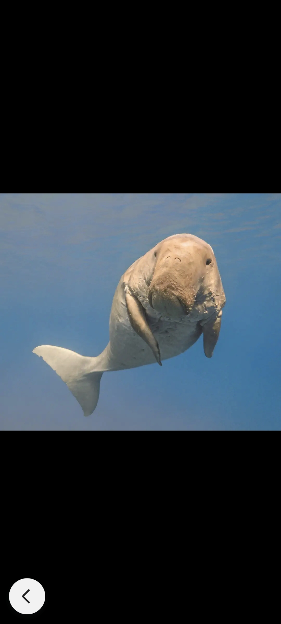
[[[75,351],[49,344],[36,347],[32,353],[39,355],[56,371],[81,405],[84,416],[91,416],[99,401],[99,385],[102,378],[99,371],[87,372],[89,362],[94,358],[86,358]]]

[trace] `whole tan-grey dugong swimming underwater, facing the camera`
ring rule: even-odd
[[[41,356],[91,416],[102,374],[158,363],[184,353],[203,334],[211,358],[225,305],[212,247],[192,234],[168,236],[122,275],[112,301],[109,343],[96,358],[44,344]]]

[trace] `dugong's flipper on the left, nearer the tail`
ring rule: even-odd
[[[129,316],[129,321],[132,325],[132,328],[136,331],[139,336],[148,344],[155,358],[157,359],[158,364],[162,366],[160,360],[160,350],[159,344],[157,343],[156,338],[152,334],[152,331],[147,323],[145,318],[145,311],[141,305],[141,301],[139,301],[130,293],[126,293],[126,306],[127,312]]]

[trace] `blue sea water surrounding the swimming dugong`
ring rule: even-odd
[[[119,279],[152,246],[192,233],[215,253],[226,304],[214,355],[104,373],[84,417],[32,353],[95,356]],[[1,430],[280,430],[281,194],[2,193]]]

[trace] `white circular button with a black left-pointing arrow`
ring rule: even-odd
[[[44,588],[34,578],[21,578],[12,585],[9,601],[17,613],[36,613],[45,602]]]

